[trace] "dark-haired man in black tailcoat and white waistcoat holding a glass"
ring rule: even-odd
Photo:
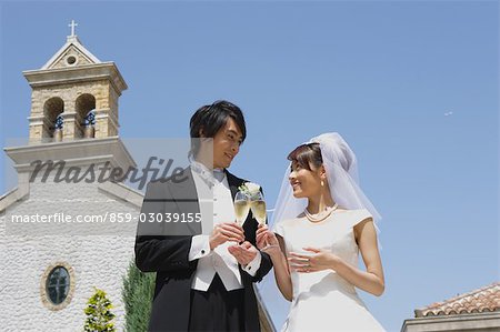
[[[157,272],[149,331],[260,331],[252,283],[272,264],[256,249],[251,214],[234,222],[246,181],[227,170],[246,134],[236,104],[201,107],[190,121],[191,165],[148,184],[141,213],[163,219],[140,222],[136,238],[137,266]]]

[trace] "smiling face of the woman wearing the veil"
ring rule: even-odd
[[[311,167],[311,170],[308,170],[293,161],[288,180],[292,187],[293,197],[297,199],[310,198],[321,193],[321,175],[319,169]]]

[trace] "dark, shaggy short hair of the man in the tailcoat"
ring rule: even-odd
[[[241,112],[239,107],[227,100],[217,100],[212,104],[199,108],[189,122],[191,135],[191,151],[189,151],[189,155],[194,157],[198,154],[200,131],[203,131],[203,137],[213,138],[226,125],[229,118],[234,120],[240,129],[241,142],[243,142],[247,138],[247,127],[243,112]]]

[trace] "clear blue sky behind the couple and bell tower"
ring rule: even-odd
[[[230,170],[261,183],[270,207],[287,153],[340,132],[383,217],[387,290],[360,293],[389,331],[417,308],[499,280],[497,1],[43,1],[0,10],[2,147],[28,135],[21,71],[41,68],[74,19],[82,43],[114,61],[129,85],[121,137],[184,138],[198,107],[233,101],[248,139]],[[272,280],[263,294],[279,328],[288,308]]]

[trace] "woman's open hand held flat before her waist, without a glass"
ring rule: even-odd
[[[290,266],[297,272],[309,273],[329,269],[334,270],[336,264],[340,260],[339,256],[323,249],[308,247],[303,248],[303,250],[310,253],[289,253],[288,261],[290,262]]]

